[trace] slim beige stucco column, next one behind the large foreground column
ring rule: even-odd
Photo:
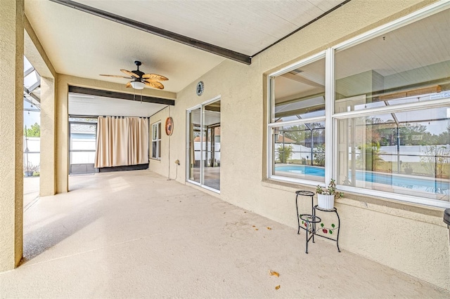
[[[55,166],[55,80],[41,77],[41,197],[56,192]]]

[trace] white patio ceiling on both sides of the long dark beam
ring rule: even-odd
[[[76,2],[252,56],[344,0]],[[99,74],[122,75],[140,60],[177,93],[229,59],[49,0],[25,0],[25,14],[59,74],[126,84]]]

